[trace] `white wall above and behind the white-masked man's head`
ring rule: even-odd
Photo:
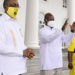
[[[63,8],[63,0],[43,0],[40,1],[40,11],[47,13],[50,12],[54,15],[56,20],[56,28],[61,28],[67,18],[67,9]]]

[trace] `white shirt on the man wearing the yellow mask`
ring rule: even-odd
[[[0,75],[17,75],[27,71],[20,26],[7,14],[0,16]]]

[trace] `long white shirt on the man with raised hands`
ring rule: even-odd
[[[51,29],[49,26],[39,31],[41,70],[61,68],[62,42],[69,42],[73,34],[64,35],[62,30]]]

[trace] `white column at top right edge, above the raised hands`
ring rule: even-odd
[[[75,21],[75,0],[68,0],[68,18],[70,24]]]

